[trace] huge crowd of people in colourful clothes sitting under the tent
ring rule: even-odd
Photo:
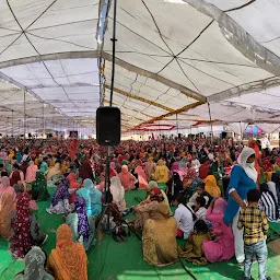
[[[26,269],[16,279],[35,265],[40,269],[34,273],[44,275],[43,279],[51,279],[45,269],[56,279],[78,275],[88,279],[86,254],[95,244],[107,197],[104,148],[82,140],[2,141],[0,236],[9,240],[14,258],[25,258]],[[143,258],[149,264],[165,266],[185,257],[203,265],[233,256],[243,264],[243,231],[237,221],[247,192],[259,189],[259,207],[270,221],[278,222],[280,206],[279,151],[261,153],[256,141],[248,147],[192,138],[125,141],[115,147],[108,213],[115,240],[124,241],[126,191],[138,189],[145,191],[145,198],[135,201],[129,224],[142,232]],[[48,242],[36,214],[39,201],[49,201],[49,214],[61,214],[56,248],[48,257],[39,248]],[[185,241],[180,250],[177,238]],[[79,254],[73,259],[74,250]],[[36,264],[33,254],[38,256]],[[74,261],[79,271],[72,267]]]

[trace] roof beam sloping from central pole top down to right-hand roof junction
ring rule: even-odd
[[[112,55],[107,54],[107,52],[102,52],[102,57],[108,61],[112,61]],[[122,67],[131,72],[135,72],[137,74],[140,74],[140,75],[143,75],[143,77],[147,77],[147,78],[150,78],[150,79],[153,79],[158,82],[161,82],[172,89],[175,89],[177,91],[179,91],[180,93],[185,94],[186,96],[188,97],[191,97],[194,100],[197,100],[199,102],[206,102],[206,97],[195,91],[191,91],[190,89],[182,85],[182,84],[178,84],[176,82],[173,82],[162,75],[159,75],[156,73],[153,73],[153,72],[150,72],[148,70],[144,70],[142,68],[139,68],[139,67],[136,67],[133,65],[130,65],[119,58],[115,58],[115,62],[116,65],[118,65],[119,67]]]

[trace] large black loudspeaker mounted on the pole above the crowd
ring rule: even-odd
[[[120,110],[117,107],[100,107],[96,110],[96,139],[101,145],[120,142]]]

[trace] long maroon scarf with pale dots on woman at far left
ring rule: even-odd
[[[30,223],[30,201],[26,192],[20,195],[16,202],[16,217],[13,225],[12,249],[21,258],[31,249],[31,223]]]

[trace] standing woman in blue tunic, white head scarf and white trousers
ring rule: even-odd
[[[224,212],[224,223],[232,224],[235,245],[235,257],[238,264],[245,260],[243,230],[237,229],[237,221],[241,208],[246,208],[245,199],[250,189],[257,188],[257,171],[255,168],[255,151],[245,147],[233,166],[231,179],[228,187],[228,206]]]

